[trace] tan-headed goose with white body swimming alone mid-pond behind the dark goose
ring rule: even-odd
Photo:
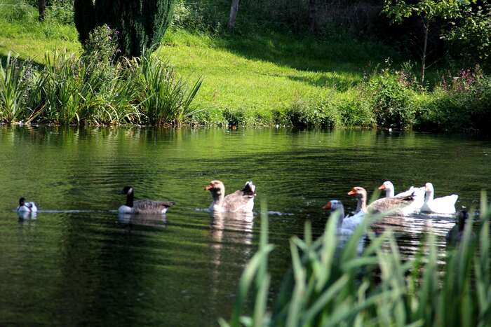
[[[252,181],[247,181],[241,190],[236,190],[225,196],[225,186],[222,181],[213,180],[205,187],[209,190],[213,202],[208,208],[218,212],[253,212],[256,186]]]

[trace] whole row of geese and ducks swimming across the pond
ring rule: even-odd
[[[252,181],[247,181],[241,190],[225,195],[225,186],[222,181],[214,180],[205,187],[210,191],[213,202],[208,208],[213,212],[232,212],[242,214],[252,214],[254,209],[255,185]],[[395,194],[394,184],[385,181],[379,190],[385,191],[385,197],[367,204],[367,191],[365,188],[355,186],[348,195],[356,197],[357,205],[354,214],[345,216],[344,206],[339,200],[330,200],[323,209],[332,212],[337,211],[341,217],[340,232],[354,230],[363,220],[366,213],[390,213],[391,215],[408,216],[410,214],[436,214],[448,215],[455,214],[455,202],[458,195],[452,194],[445,197],[435,198],[432,183],[426,183],[423,187],[413,187],[403,193]],[[126,203],[119,207],[119,214],[166,214],[168,209],[175,202],[154,201],[154,200],[135,200],[135,190],[132,186],[125,186],[121,194],[126,195]],[[24,197],[19,200],[17,211],[19,214],[30,214],[37,211],[34,202],[26,202]]]

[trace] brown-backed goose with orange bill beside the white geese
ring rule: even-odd
[[[370,212],[370,214],[383,213],[386,211],[393,211],[391,214],[398,216],[405,216],[417,211],[424,201],[423,188],[416,188],[415,192],[411,195],[402,197],[382,197],[382,199],[375,200],[367,206],[367,191],[365,188],[355,186],[352,188],[348,195],[355,196],[358,199],[356,211]]]

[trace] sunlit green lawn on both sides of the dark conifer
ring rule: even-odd
[[[64,48],[81,51],[73,25],[37,22],[33,8],[0,15],[1,55],[12,51],[42,64],[47,50]],[[169,29],[156,55],[189,80],[203,77],[194,104],[218,117],[224,109],[268,116],[299,102],[355,99],[363,72],[396,53],[342,36],[325,41],[269,32],[210,37]]]

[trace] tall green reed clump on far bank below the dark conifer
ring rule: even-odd
[[[179,125],[196,112],[201,78],[189,86],[153,55],[113,62],[55,51],[44,62],[36,68],[9,53],[0,64],[1,123]]]

